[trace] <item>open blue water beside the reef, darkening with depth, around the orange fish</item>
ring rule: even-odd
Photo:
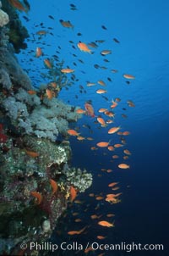
[[[169,2],[167,0],[74,0],[77,10],[71,10],[72,2],[67,0],[29,2],[30,21],[25,22],[25,19],[21,19],[30,34],[34,34],[35,40],[30,37],[32,41],[27,42],[28,50],[22,51],[19,58],[22,66],[30,69],[29,74],[33,84],[39,86],[43,82],[41,71],[45,72],[46,69],[43,58],[36,59],[34,53],[27,55],[27,51],[35,50],[35,47],[39,46],[42,47],[45,57],[51,58],[53,54],[57,54],[61,61],[64,60],[65,66],[75,69],[76,79],[79,79],[68,91],[63,88],[59,98],[80,108],[84,108],[85,101],[92,100],[97,115],[98,109],[110,106],[109,102],[112,98],[120,97],[121,102],[115,109],[114,125],[121,125],[122,131],[131,132],[129,136],[125,136],[126,148],[132,153],[126,161],[130,169],[119,170],[117,164],[123,162],[121,148],[116,150],[120,158],[113,162],[110,161],[112,153],[106,149],[90,150],[90,147],[95,146],[97,142],[106,142],[112,138],[112,143],[119,143],[119,138],[108,135],[107,127],[99,129],[100,125],[95,124],[95,118],[90,116],[83,117],[75,124],[79,127],[82,136],[92,136],[94,141],[78,142],[76,138],[70,138],[73,150],[72,164],[92,172],[94,181],[88,191],[79,195],[78,199],[84,203],[74,203],[70,206],[66,219],[61,220],[59,225],[60,237],[57,235],[57,227],[52,237],[53,241],[77,241],[84,244],[95,241],[107,244],[162,243],[165,251],[133,253],[119,251],[113,252],[113,255],[168,255]],[[54,19],[50,19],[48,15],[52,15]],[[59,19],[70,20],[74,29],[63,28]],[[35,36],[35,32],[41,30],[41,22],[46,30],[47,27],[52,27],[54,36],[47,34],[41,40]],[[105,25],[106,30],[103,30],[101,25]],[[82,36],[77,36],[79,32]],[[112,38],[117,38],[120,43],[113,42]],[[77,47],[79,40],[86,43],[95,40],[105,40],[105,42],[98,43],[99,47],[93,48],[94,54],[88,54],[79,51]],[[69,41],[73,41],[74,44]],[[101,56],[101,50],[104,49],[112,50],[112,54]],[[30,58],[34,60],[31,62]],[[104,62],[104,58],[109,62]],[[78,59],[82,59],[84,64]],[[94,64],[105,66],[107,70],[97,70]],[[110,71],[112,69],[118,72],[113,74]],[[128,85],[123,74],[134,75],[135,80]],[[107,81],[107,77],[110,77],[112,82]],[[87,81],[99,80],[106,82],[105,96],[108,97],[108,101],[95,93],[95,90],[103,88],[102,86],[86,86]],[[85,88],[86,93],[79,92],[79,85]],[[134,102],[134,108],[128,107],[128,100]],[[128,117],[124,119],[121,114],[127,114]],[[84,128],[83,125],[90,125],[90,129]],[[113,124],[108,127],[111,126]],[[113,172],[103,173],[101,168],[112,169]],[[102,176],[99,177],[98,174]],[[111,205],[104,200],[96,201],[95,198],[89,197],[90,192],[95,194],[102,192],[103,196],[112,192],[107,186],[112,181],[119,182],[120,192],[123,192],[121,203]],[[100,203],[100,209],[96,212],[97,203]],[[78,218],[83,220],[82,223],[74,222],[76,217],[73,218],[71,213],[75,211],[79,211]],[[97,225],[98,220],[90,219],[90,215],[95,212],[103,214],[103,219],[115,220],[115,227],[106,228]],[[114,213],[115,218],[106,218],[108,213]],[[85,225],[89,225],[89,231],[85,235],[68,237],[68,231],[79,230]],[[97,235],[106,236],[106,239],[98,241],[95,238]],[[75,255],[74,252],[69,253]],[[80,253],[78,255],[81,255]],[[101,251],[90,252],[87,255],[99,255],[99,253]],[[112,255],[112,251],[104,253]]]

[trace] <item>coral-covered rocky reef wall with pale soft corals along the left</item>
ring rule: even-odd
[[[49,83],[32,88],[15,55],[19,47],[14,50],[9,40],[11,27],[1,14],[0,253],[38,255],[29,247],[20,252],[20,244],[45,242],[74,200],[72,191],[85,192],[92,175],[69,164],[68,125],[80,116],[57,98],[62,76],[57,87]]]

